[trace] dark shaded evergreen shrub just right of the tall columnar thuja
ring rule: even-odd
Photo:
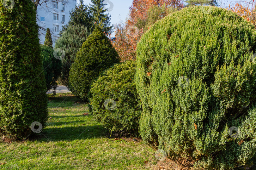
[[[49,91],[53,89],[55,93],[55,89],[57,88],[57,79],[61,73],[61,60],[56,59],[53,55],[54,50],[47,46],[41,45],[41,56],[43,59],[43,68],[46,79],[46,89]]]

